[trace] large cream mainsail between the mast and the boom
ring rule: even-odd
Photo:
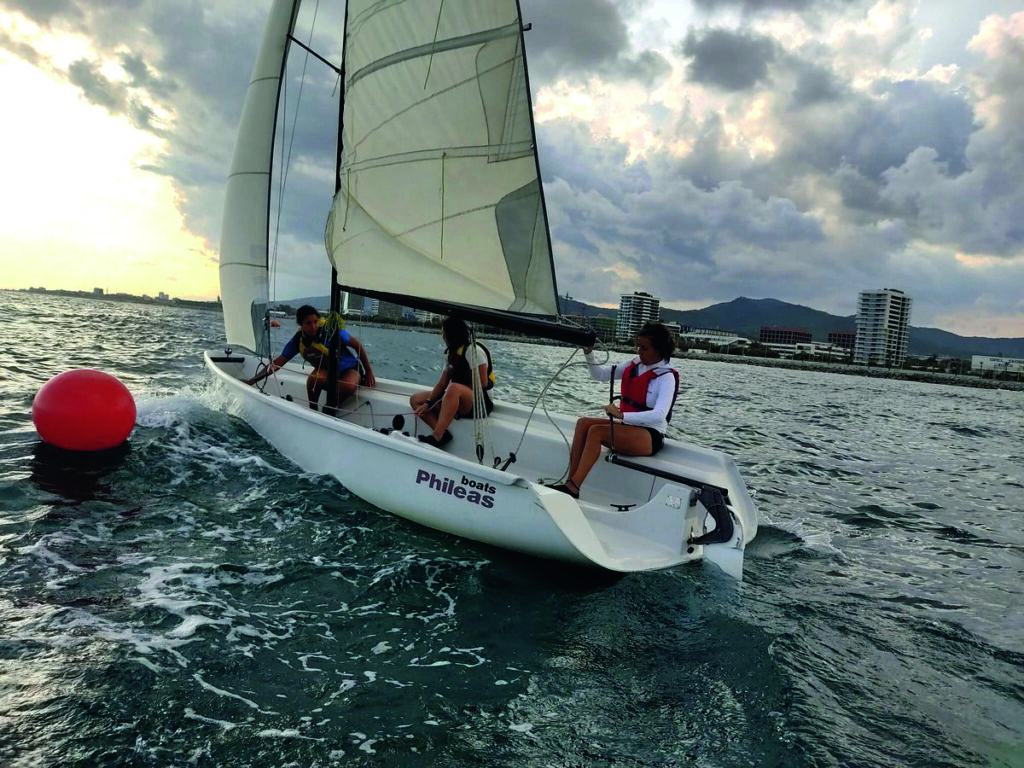
[[[349,0],[347,13],[326,231],[339,283],[557,315],[516,0]]]

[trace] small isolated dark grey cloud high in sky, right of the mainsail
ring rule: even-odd
[[[767,80],[775,47],[771,38],[709,29],[690,32],[681,51],[690,59],[687,76],[691,82],[741,91]]]

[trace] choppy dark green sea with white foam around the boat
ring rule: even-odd
[[[435,379],[434,334],[350,330]],[[1024,393],[680,360],[674,431],[756,494],[744,580],[609,577],[304,473],[218,400],[221,340],[0,291],[5,768],[1024,766]],[[489,346],[529,404],[572,352]],[[132,391],[127,451],[40,443],[33,396],[74,368]],[[543,404],[605,394],[570,365]]]

